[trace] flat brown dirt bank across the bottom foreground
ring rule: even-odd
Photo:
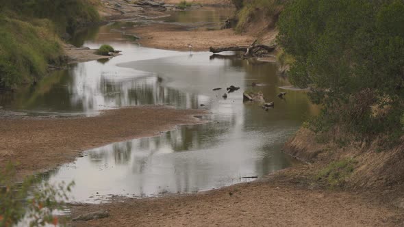
[[[110,217],[73,226],[402,226],[404,213],[374,193],[307,189],[308,167],[255,183],[191,196],[73,206],[73,217],[105,209]]]

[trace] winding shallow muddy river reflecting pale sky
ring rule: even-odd
[[[175,12],[166,18],[134,19],[88,29],[72,41],[97,48],[111,44],[122,55],[73,64],[33,88],[0,98],[5,109],[26,114],[94,115],[102,109],[170,105],[207,109],[207,124],[179,126],[156,137],[109,144],[84,152],[75,162],[45,174],[47,181],[75,181],[73,201],[99,202],[112,195],[142,197],[191,193],[232,185],[287,168],[294,159],[282,145],[305,117],[316,113],[304,92],[288,90],[275,63],[208,52],[139,46],[127,39],[141,23],[181,23],[184,29],[220,26],[231,10]],[[126,34],[126,35],[125,35]],[[181,42],[181,40],[179,40]],[[186,44],[184,44],[186,45]],[[251,83],[260,86],[252,87]],[[229,85],[240,90],[222,98]],[[213,88],[223,88],[213,91]],[[243,103],[244,90],[260,90],[275,108]],[[201,106],[204,105],[204,106]]]

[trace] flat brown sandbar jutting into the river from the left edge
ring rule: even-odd
[[[89,118],[0,119],[0,166],[18,161],[19,176],[73,161],[83,150],[138,137],[157,135],[179,124],[199,124],[194,109],[162,106],[104,111]]]

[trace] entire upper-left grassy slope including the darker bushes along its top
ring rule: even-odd
[[[5,1],[0,8],[0,88],[18,88],[46,75],[48,64],[63,62],[59,38],[99,20],[97,1]]]

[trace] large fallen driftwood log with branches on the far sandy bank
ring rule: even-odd
[[[250,46],[227,46],[214,48],[210,46],[209,51],[212,53],[220,53],[223,51],[242,51],[244,57],[262,57],[268,53],[275,51],[275,46],[266,46],[264,44],[256,44],[255,40]]]

